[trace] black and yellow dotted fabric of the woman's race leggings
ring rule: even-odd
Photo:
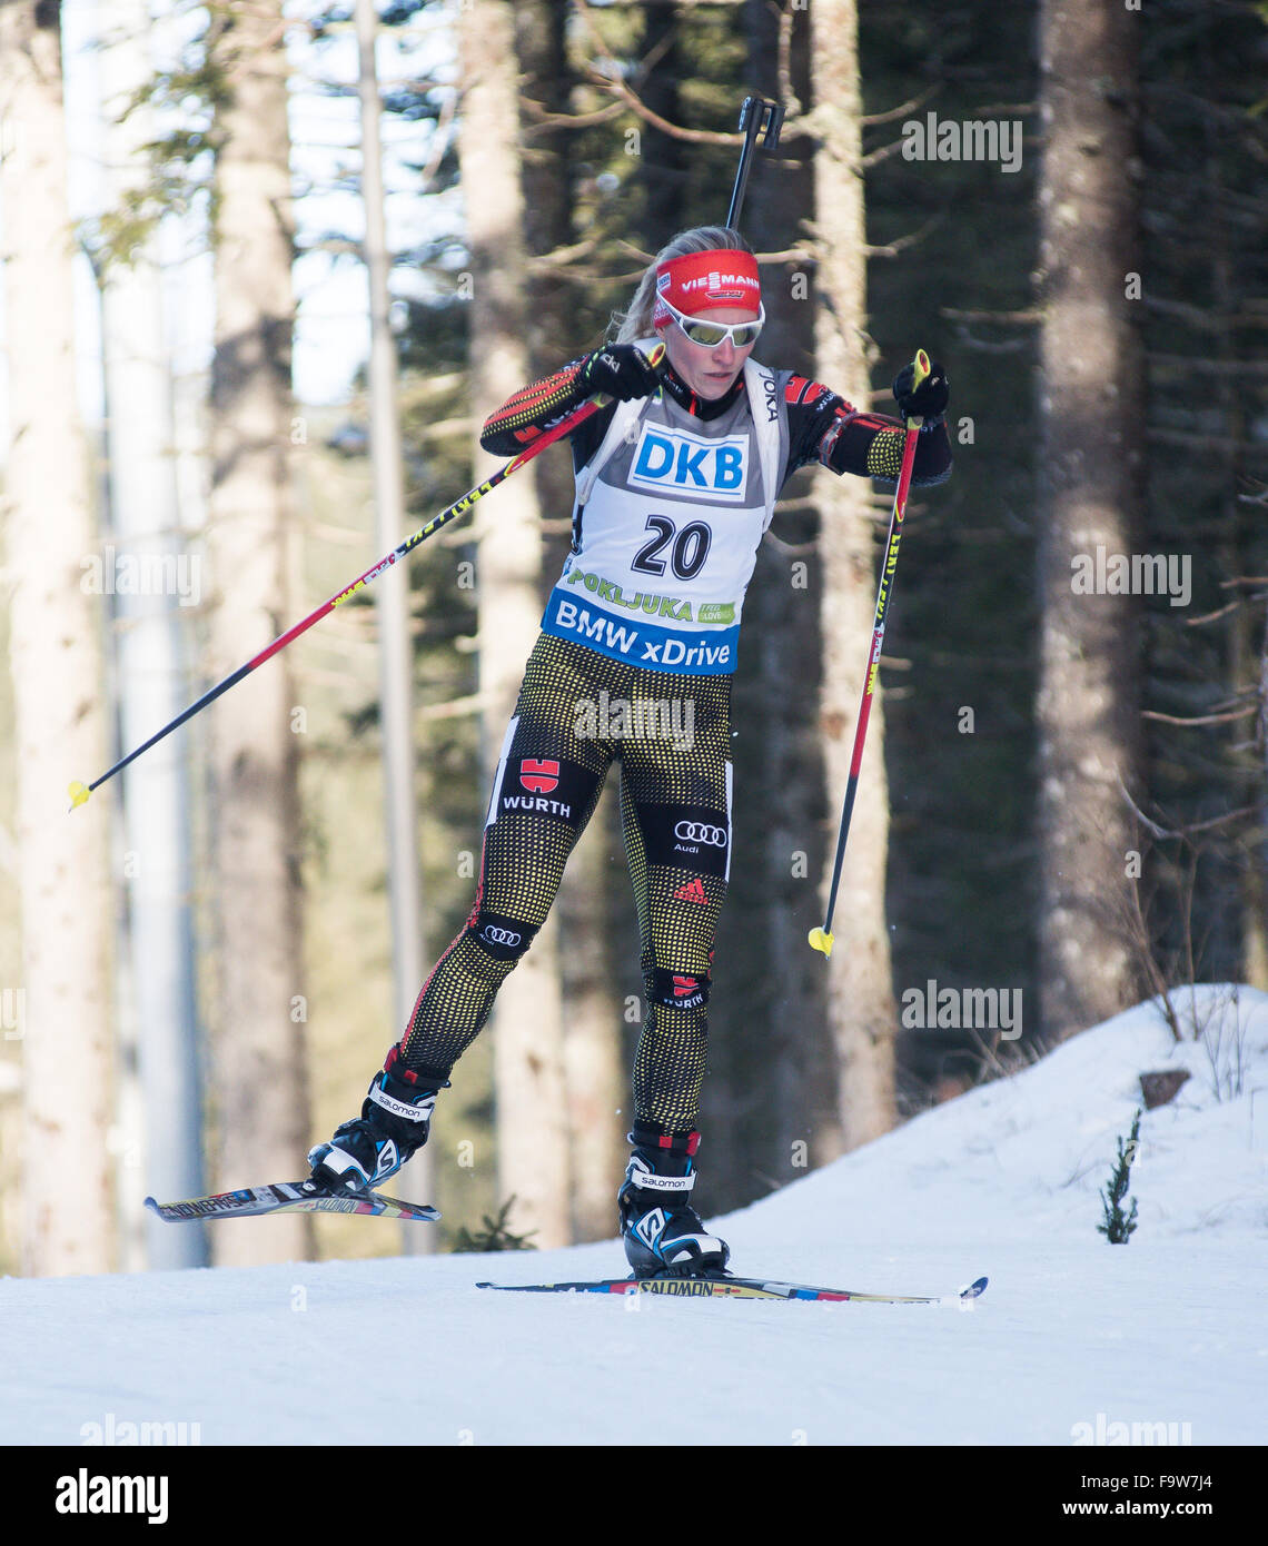
[[[642,734],[620,734],[615,716],[622,703],[629,705]],[[665,733],[663,719],[653,724],[651,711],[640,722],[639,708],[648,703],[679,705],[677,739]],[[513,959],[496,959],[478,937],[479,915],[513,920],[533,932],[541,928],[603,779],[612,762],[620,762],[622,830],[648,994],[634,1062],[634,1113],[640,1125],[690,1133],[705,1073],[707,1003],[651,1003],[653,971],[707,979],[727,883],[688,855],[666,853],[657,835],[673,830],[676,807],[694,819],[713,813],[716,832],[727,827],[730,677],[643,671],[543,634],[529,657],[515,713],[507,767],[520,768],[524,758],[572,764],[580,787],[594,781],[592,792],[569,821],[552,812],[501,807],[486,827],[472,915],[418,997],[401,1044],[405,1067],[421,1078],[447,1078],[479,1034],[498,988],[515,968]],[[710,858],[721,867],[718,850]]]

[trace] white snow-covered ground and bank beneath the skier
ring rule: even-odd
[[[0,1442],[118,1441],[127,1422],[345,1442],[323,1415],[362,1391],[376,1446],[1075,1446],[1132,1424],[1154,1444],[1263,1444],[1268,996],[1177,1002],[1203,1039],[1177,1045],[1141,1005],[714,1220],[738,1271],[898,1292],[985,1272],[971,1309],[473,1286],[623,1275],[617,1243],[6,1279]],[[1098,1194],[1138,1076],[1163,1068],[1192,1078],[1144,1115],[1138,1229],[1110,1246]]]

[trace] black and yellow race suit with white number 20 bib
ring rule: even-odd
[[[578,362],[580,363],[580,362]],[[516,455],[581,400],[578,363],[516,393],[481,444]],[[776,373],[779,484],[821,461],[895,481],[903,427]],[[770,397],[770,388],[765,390]],[[634,1064],[645,1132],[694,1130],[705,1071],[713,938],[731,853],[730,682],[744,589],[775,493],[762,487],[738,377],[704,402],[673,371],[611,456],[583,509],[529,656],[484,827],[467,925],[419,993],[397,1078],[441,1084],[479,1034],[503,980],[546,921],[568,855],[620,762],[646,1013]],[[617,405],[572,434],[581,475]],[[637,433],[636,433],[637,431]],[[922,433],[912,481],[940,482],[951,450]]]

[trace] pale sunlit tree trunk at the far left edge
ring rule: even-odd
[[[102,580],[76,413],[60,6],[0,6],[11,451],[9,665],[17,722],[23,1051],[23,1271],[104,1272],[113,1206],[107,1129],[110,796],[66,815],[71,778],[105,767]],[[93,594],[96,592],[96,594]],[[12,1030],[8,1033],[12,1034]]]

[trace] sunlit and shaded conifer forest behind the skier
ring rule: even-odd
[[[487,476],[484,416],[722,220],[750,91],[787,110],[742,221],[758,356],[885,413],[926,348],[956,472],[908,509],[827,962],[892,496],[799,473],[758,555],[707,1211],[1147,994],[1268,989],[1268,9],[402,0],[377,88],[357,9],[359,54],[308,0],[0,9],[0,1271],[612,1234],[642,1019],[615,779],[399,1178],[435,1231],[141,1209],[300,1175],[461,928],[564,451],[84,810],[63,790]]]

